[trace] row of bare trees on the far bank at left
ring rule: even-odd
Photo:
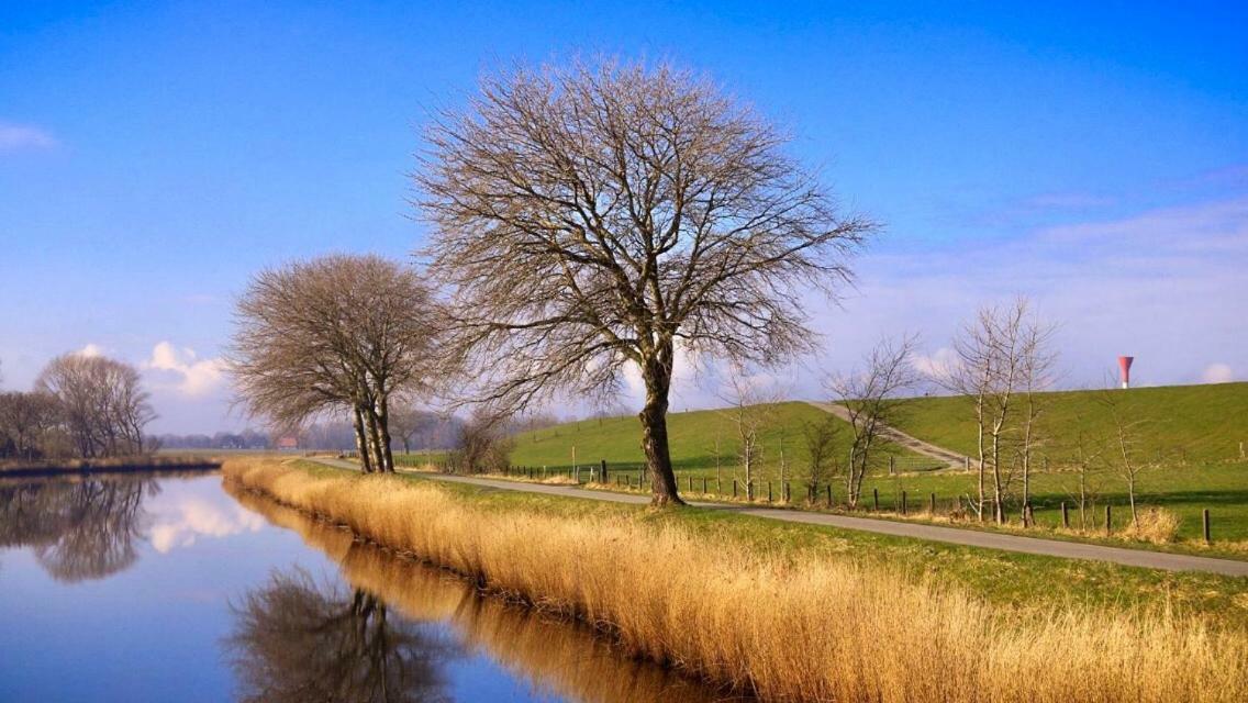
[[[0,393],[0,457],[140,455],[151,448],[144,428],[155,417],[134,366],[64,355],[44,367],[34,391]]]

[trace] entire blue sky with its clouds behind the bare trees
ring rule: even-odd
[[[880,333],[938,361],[1031,295],[1065,383],[1248,378],[1248,6],[0,4],[0,375],[142,365],[161,431],[238,427],[215,361],[257,268],[406,256],[429,107],[579,54],[705,70],[884,221],[809,388]],[[686,377],[688,378],[688,377]],[[713,393],[688,378],[676,406]]]

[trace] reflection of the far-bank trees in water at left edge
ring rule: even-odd
[[[105,578],[134,564],[151,478],[44,479],[0,484],[0,547],[31,547],[56,581]]]

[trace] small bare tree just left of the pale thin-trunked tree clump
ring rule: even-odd
[[[861,370],[831,376],[825,381],[834,403],[845,408],[852,442],[845,476],[846,503],[857,506],[862,479],[870,468],[871,453],[881,435],[896,425],[909,402],[900,397],[919,383],[919,372],[911,363],[919,337],[885,337],[867,352]]]

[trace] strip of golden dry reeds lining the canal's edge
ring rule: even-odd
[[[740,549],[726,563],[705,558],[683,551],[681,534],[646,532],[628,519],[537,512],[524,516],[527,529],[505,529],[517,526],[515,516],[402,477],[231,463],[227,478],[277,503],[392,552],[414,552],[517,602],[614,632],[638,658],[725,691],[882,702],[1241,701],[1248,693],[1242,634],[1184,619],[1097,611],[1003,621],[957,592],[845,564],[790,568]],[[820,601],[811,606],[815,594]],[[996,647],[976,646],[985,639]],[[1023,679],[1032,682],[1027,691],[1005,684]]]

